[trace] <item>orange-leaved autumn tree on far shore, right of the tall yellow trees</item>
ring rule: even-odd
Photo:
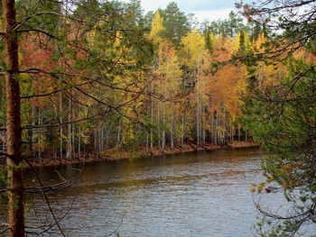
[[[203,70],[209,72],[203,77],[208,82],[210,135],[215,144],[233,141],[236,130],[240,129],[237,119],[242,116],[241,98],[246,94],[246,67],[241,63],[228,63],[232,61],[233,52],[240,49],[236,41],[237,37],[232,40],[212,36],[213,50],[203,64]]]

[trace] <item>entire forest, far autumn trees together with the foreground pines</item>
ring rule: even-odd
[[[295,205],[305,215],[293,226],[315,221],[315,5],[275,2],[199,23],[173,2],[144,14],[140,0],[3,0],[0,155],[14,169],[1,175],[20,173],[22,160],[254,139],[274,151],[266,184],[302,187],[309,212]],[[294,15],[300,6],[312,7]],[[8,199],[23,200],[16,192]]]

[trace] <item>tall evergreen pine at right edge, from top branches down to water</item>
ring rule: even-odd
[[[242,6],[247,18],[264,29],[257,37],[255,34],[252,59],[256,65],[245,123],[254,138],[273,153],[263,160],[267,179],[265,189],[260,185],[258,191],[283,190],[290,205],[286,214],[277,214],[277,210],[258,204],[264,214],[258,231],[268,236],[293,236],[306,224],[316,222],[316,58],[308,52],[315,32],[311,17],[314,3],[269,1]],[[267,30],[278,32],[265,37]]]

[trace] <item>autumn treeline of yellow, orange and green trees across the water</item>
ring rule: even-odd
[[[17,7],[19,31],[27,32],[19,38],[26,156],[75,159],[87,150],[246,139],[239,119],[247,78],[265,70],[251,64],[265,43],[259,25],[233,12],[197,23],[175,3],[144,15],[139,0]]]

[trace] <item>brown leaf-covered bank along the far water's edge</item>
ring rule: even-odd
[[[234,148],[246,148],[246,147],[258,147],[257,142],[247,142],[247,141],[233,141],[228,143],[226,146],[213,145],[211,143],[206,143],[204,146],[198,146],[194,143],[186,143],[181,146],[175,146],[173,149],[171,147],[166,147],[164,150],[159,148],[150,148],[146,147],[136,147],[135,149],[125,149],[125,148],[113,148],[106,150],[103,154],[98,153],[86,153],[80,158],[73,160],[52,160],[50,158],[42,158],[39,160],[30,159],[28,162],[33,167],[54,167],[60,165],[70,165],[78,163],[93,163],[99,161],[113,161],[113,160],[138,160],[146,159],[149,157],[159,157],[163,155],[172,155],[172,154],[181,154],[201,150],[218,150],[218,149],[234,149]],[[25,167],[28,167],[28,164],[25,163]]]

